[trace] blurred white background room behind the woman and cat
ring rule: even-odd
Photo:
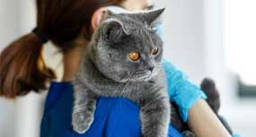
[[[166,7],[165,57],[199,84],[213,78],[221,111],[235,133],[256,131],[256,1],[155,0]],[[0,0],[0,51],[35,27],[34,0]],[[62,72],[61,55],[45,46],[48,63]],[[28,49],[29,50],[29,49]],[[0,98],[0,137],[38,137],[47,92]]]

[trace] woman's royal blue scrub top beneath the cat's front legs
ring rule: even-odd
[[[98,98],[94,121],[84,134],[72,129],[73,85],[52,82],[45,103],[40,137],[140,137],[139,107],[126,98]],[[169,137],[181,137],[172,125]]]

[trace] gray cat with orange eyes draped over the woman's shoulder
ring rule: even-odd
[[[144,137],[167,137],[171,106],[163,41],[151,27],[163,11],[110,14],[95,30],[73,81],[75,132],[89,129],[99,96],[122,97],[140,107]]]

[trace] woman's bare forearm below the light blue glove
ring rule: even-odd
[[[190,108],[188,124],[198,137],[231,137],[204,99]]]

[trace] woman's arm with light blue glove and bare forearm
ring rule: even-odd
[[[163,59],[163,68],[170,98],[178,105],[182,120],[190,125],[191,130],[198,137],[231,136],[207,105],[205,93],[166,59]]]

